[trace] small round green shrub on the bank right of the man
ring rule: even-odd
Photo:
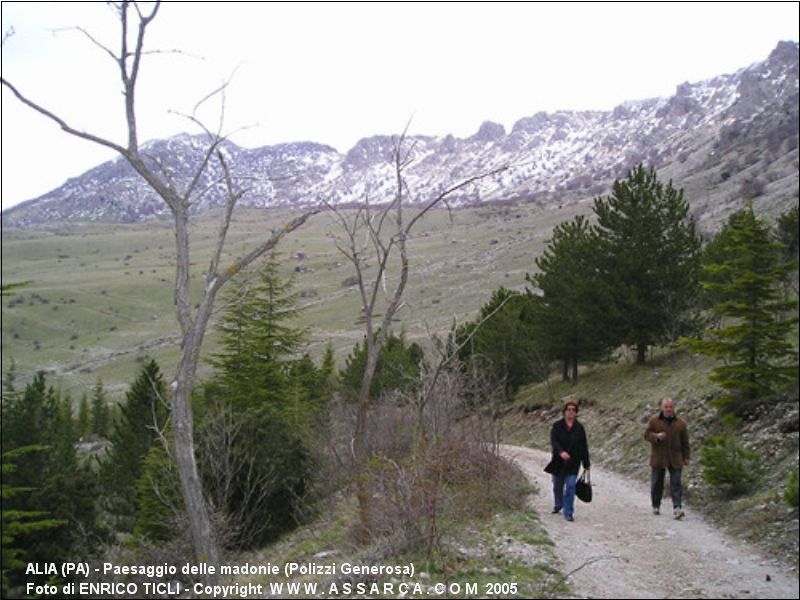
[[[728,496],[739,496],[758,480],[758,454],[742,448],[732,434],[713,435],[700,454],[703,478]]]

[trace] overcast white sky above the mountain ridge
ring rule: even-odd
[[[315,141],[466,137],[484,120],[510,130],[538,111],[609,110],[669,96],[797,41],[796,2],[215,3],[165,2],[147,40],[141,139],[196,132],[174,114],[234,74],[226,129],[257,147]],[[124,144],[121,84],[104,3],[3,2],[3,77],[92,133]],[[37,197],[113,157],[70,138],[2,92],[2,206]],[[172,112],[171,112],[172,111]]]

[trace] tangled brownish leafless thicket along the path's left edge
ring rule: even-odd
[[[370,421],[366,524],[370,539],[391,540],[395,551],[432,553],[455,523],[521,506],[524,480],[500,457],[494,421],[468,406],[476,394],[494,397],[496,384],[437,368],[415,390]]]

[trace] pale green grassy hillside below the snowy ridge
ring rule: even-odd
[[[398,327],[411,338],[426,338],[429,330],[447,329],[453,318],[471,317],[500,285],[523,286],[552,228],[587,210],[587,202],[573,202],[549,209],[524,203],[431,213],[409,245],[412,273]],[[238,213],[229,257],[252,247],[288,216]],[[192,231],[195,291],[216,229],[217,218],[209,215]],[[319,355],[332,343],[343,362],[363,333],[356,289],[344,285],[354,272],[336,249],[333,236],[339,233],[332,217],[320,214],[286,238],[279,252],[285,274],[295,275],[304,297],[300,321],[309,328],[311,351]],[[179,338],[168,221],[6,231],[2,250],[3,282],[30,281],[3,298],[3,373],[11,361],[22,382],[43,369],[73,395],[101,378],[112,396],[120,396],[145,357],[172,371]],[[212,334],[206,354],[214,347]]]

